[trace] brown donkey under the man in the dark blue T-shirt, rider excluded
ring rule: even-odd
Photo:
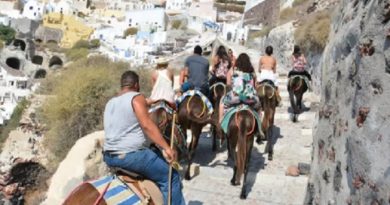
[[[191,179],[190,167],[195,156],[195,150],[198,146],[202,129],[205,125],[210,123],[217,128],[217,134],[221,133],[217,121],[212,119],[208,114],[208,108],[200,96],[194,95],[192,97],[187,97],[180,103],[178,107],[178,124],[183,129],[184,135],[187,135],[186,131],[188,129],[190,129],[192,133],[191,143],[188,147],[188,167],[184,175],[186,180]]]

